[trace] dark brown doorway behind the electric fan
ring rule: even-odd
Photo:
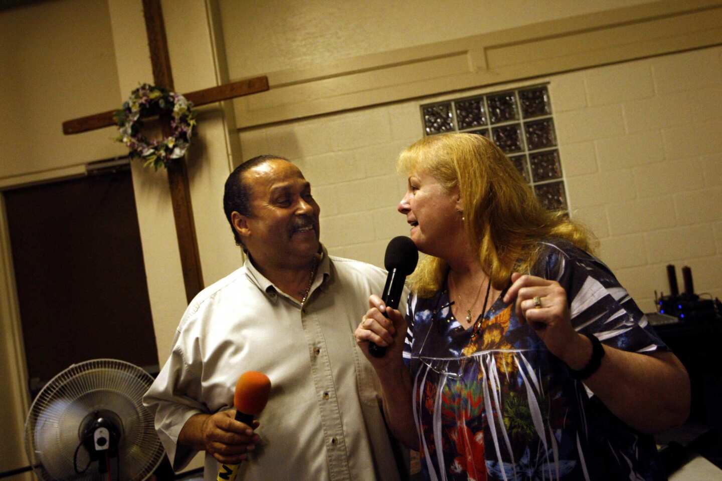
[[[33,397],[72,363],[157,370],[129,167],[4,192]]]

